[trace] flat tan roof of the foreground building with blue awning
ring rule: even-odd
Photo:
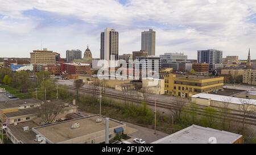
[[[102,119],[102,122],[96,123],[96,119],[99,118]],[[74,123],[79,123],[80,128],[71,129],[71,126]],[[119,125],[123,125],[123,123],[117,122],[113,119],[109,119],[109,128],[118,127]],[[46,137],[46,139],[52,141],[52,143],[60,143],[62,141],[75,139],[76,137],[104,130],[105,117],[101,117],[100,115],[93,115],[85,118],[69,120],[67,122],[61,122],[34,128],[34,132]]]

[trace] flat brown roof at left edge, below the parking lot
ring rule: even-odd
[[[33,104],[33,103],[41,103],[40,100],[37,99],[18,99],[18,100],[8,100],[4,102],[0,102],[0,109],[5,108],[15,108],[24,104]]]

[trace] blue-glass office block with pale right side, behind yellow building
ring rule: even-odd
[[[222,68],[222,51],[216,49],[208,49],[205,51],[197,51],[197,62],[209,64],[209,71]]]

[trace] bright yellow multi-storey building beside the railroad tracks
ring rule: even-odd
[[[223,89],[224,77],[184,76],[170,74],[164,77],[166,94],[191,98],[192,95]]]

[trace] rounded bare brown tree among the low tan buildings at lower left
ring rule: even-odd
[[[64,104],[55,102],[42,103],[39,107],[40,116],[45,124],[52,124],[61,112],[64,111]]]

